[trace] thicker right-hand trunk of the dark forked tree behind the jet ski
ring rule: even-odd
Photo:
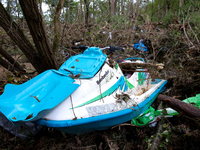
[[[54,54],[50,48],[36,0],[19,0],[19,3],[37,48],[39,62],[36,63],[41,66],[41,69],[37,71],[43,72],[47,69],[57,69]]]

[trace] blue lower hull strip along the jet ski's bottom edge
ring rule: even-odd
[[[165,81],[153,94],[151,94],[150,97],[146,98],[142,103],[138,104],[138,106],[132,107],[134,110],[124,109],[105,115],[77,120],[47,121],[45,119],[40,119],[36,123],[39,125],[53,127],[57,130],[69,134],[83,134],[95,130],[108,129],[112,126],[129,121],[147,110],[154,102],[161,90],[164,88],[166,83],[167,81]]]

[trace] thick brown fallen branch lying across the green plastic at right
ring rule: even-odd
[[[200,119],[200,109],[198,109],[188,103],[185,103],[178,99],[174,99],[172,97],[165,96],[162,94],[158,95],[158,100],[170,104],[170,106],[178,112],[184,112],[185,114],[187,114],[189,116]]]

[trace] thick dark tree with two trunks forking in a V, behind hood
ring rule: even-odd
[[[12,20],[2,3],[0,3],[0,26],[18,45],[38,73],[47,69],[57,69],[57,64],[49,46],[43,26],[42,16],[35,0],[19,0],[26,18],[35,47],[27,40],[19,26]]]

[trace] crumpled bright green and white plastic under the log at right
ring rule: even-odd
[[[190,97],[183,102],[193,105],[200,109],[200,94],[197,94],[195,97]],[[149,127],[154,127],[157,123],[157,120],[160,120],[161,117],[173,117],[179,113],[172,108],[165,108],[161,110],[155,110],[153,107],[149,107],[143,114],[131,120],[131,123],[137,126],[144,126],[149,124]]]

